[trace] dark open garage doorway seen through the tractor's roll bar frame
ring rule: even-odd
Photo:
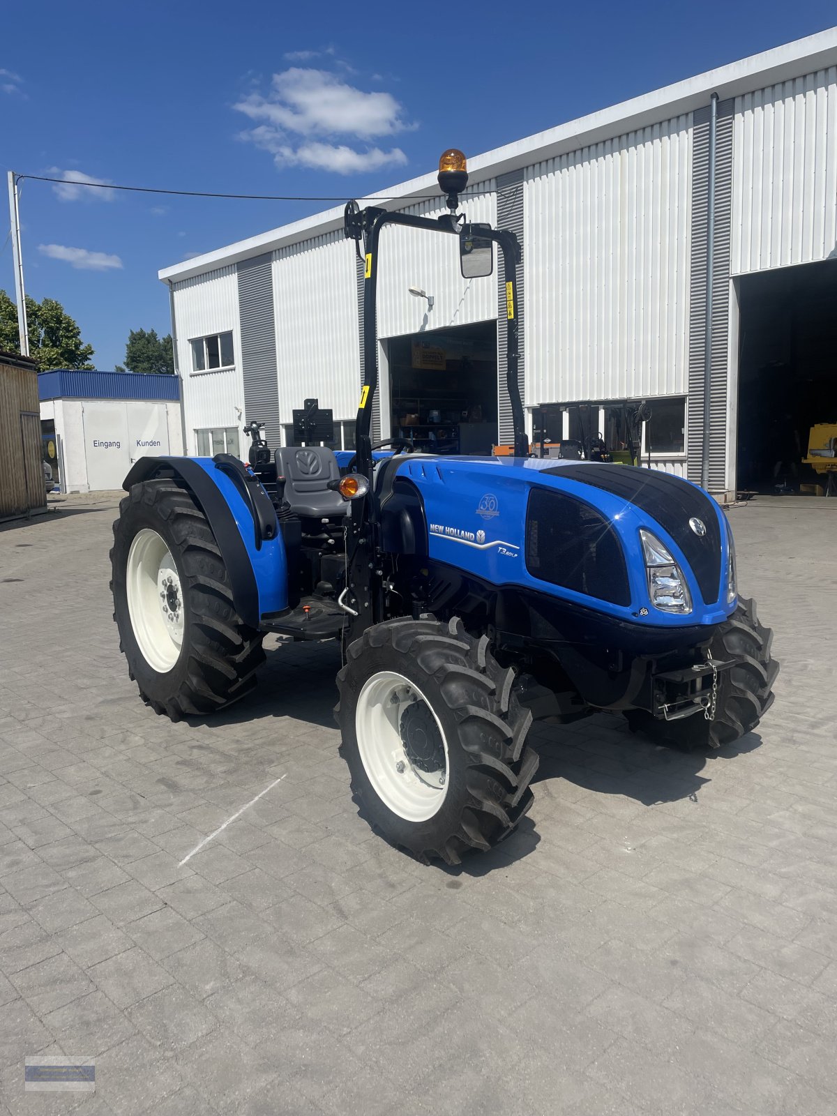
[[[491,453],[497,443],[497,324],[387,343],[393,437],[434,453]]]

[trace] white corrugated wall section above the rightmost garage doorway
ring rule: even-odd
[[[837,67],[735,98],[733,275],[826,259],[837,240]]]

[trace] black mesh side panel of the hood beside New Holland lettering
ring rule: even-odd
[[[526,568],[532,577],[588,597],[631,604],[625,555],[613,525],[590,504],[565,492],[531,490]]]

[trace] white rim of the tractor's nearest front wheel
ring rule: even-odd
[[[417,708],[420,702],[432,715],[444,751],[443,766],[431,771],[420,766],[421,759],[402,739],[402,719],[410,706]],[[448,741],[435,710],[419,686],[394,671],[373,674],[357,699],[355,731],[360,760],[378,798],[405,821],[432,818],[448,793]],[[414,742],[421,747],[426,737],[420,727],[413,732]]]

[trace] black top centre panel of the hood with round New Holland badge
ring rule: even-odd
[[[545,470],[565,480],[580,481],[620,497],[639,508],[671,535],[698,579],[708,605],[718,600],[721,586],[721,527],[714,501],[703,489],[680,477],[635,465],[565,465]],[[689,526],[691,518],[706,527],[701,537]]]

